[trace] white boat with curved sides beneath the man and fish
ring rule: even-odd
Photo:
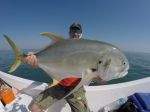
[[[0,112],[30,112],[30,102],[41,91],[48,87],[47,83],[17,77],[0,71],[0,78],[12,86],[15,99],[5,106],[0,102]],[[127,98],[135,92],[150,92],[150,77],[111,85],[84,86],[88,106],[92,112],[104,111],[112,102]],[[45,112],[71,112],[69,104],[62,99],[50,106]]]

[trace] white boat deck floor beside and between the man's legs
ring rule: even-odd
[[[36,96],[18,93],[18,91],[14,88],[13,93],[15,95],[15,99],[9,104],[4,106],[0,101],[0,112],[30,112],[28,106]],[[45,112],[71,112],[71,109],[69,107],[69,104],[67,104],[63,99],[49,107]]]

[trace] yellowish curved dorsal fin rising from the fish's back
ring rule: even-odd
[[[57,34],[52,33],[52,32],[42,32],[40,34],[51,38],[53,40],[53,42],[64,40],[63,36],[57,35]]]

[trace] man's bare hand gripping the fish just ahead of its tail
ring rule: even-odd
[[[23,61],[32,67],[38,67],[38,60],[36,55],[34,55],[34,52],[29,52]]]

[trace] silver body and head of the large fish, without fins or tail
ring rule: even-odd
[[[112,76],[113,79],[122,77],[122,73],[129,68],[127,58],[117,47],[96,40],[64,39],[49,45],[36,55],[40,66],[44,70],[49,68],[49,72],[46,72],[50,76],[56,73],[60,79],[82,78],[83,71],[97,69],[99,75],[107,77],[109,74],[111,80]],[[111,76],[112,73],[115,75]]]

